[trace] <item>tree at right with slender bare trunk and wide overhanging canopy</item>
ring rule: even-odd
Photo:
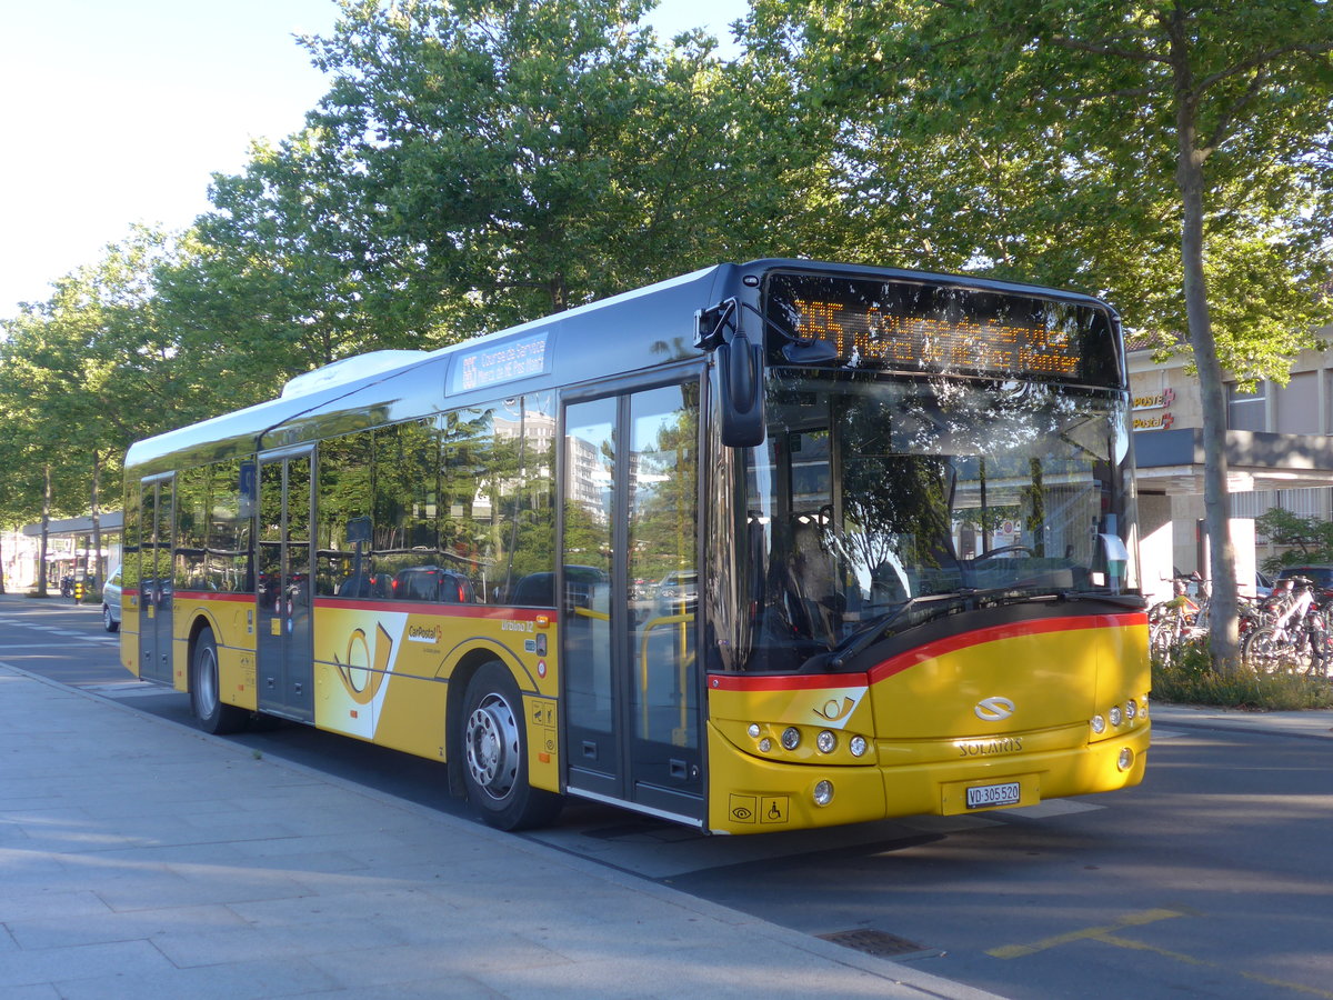
[[[805,81],[810,108],[838,117],[836,163],[849,196],[869,196],[862,215],[897,212],[881,245],[1090,288],[1132,324],[1188,329],[1210,635],[1234,665],[1222,365],[1280,375],[1328,316],[1333,12],[758,0],[749,31],[753,52]]]

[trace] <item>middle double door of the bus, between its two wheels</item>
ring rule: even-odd
[[[259,460],[259,709],[315,717],[311,633],[311,452]]]

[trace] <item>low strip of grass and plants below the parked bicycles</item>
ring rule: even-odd
[[[1208,648],[1186,647],[1170,664],[1153,659],[1153,700],[1184,705],[1217,705],[1269,712],[1333,708],[1333,683],[1325,677],[1256,673],[1213,668]]]

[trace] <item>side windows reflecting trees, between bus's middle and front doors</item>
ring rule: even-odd
[[[528,603],[555,563],[553,456],[547,395],[323,441],[319,593]]]

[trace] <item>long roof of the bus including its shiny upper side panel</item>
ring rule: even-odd
[[[336,361],[296,376],[277,399],[137,441],[125,455],[125,469],[136,476],[168,472],[700,357],[696,311],[734,295],[742,279],[757,284],[754,279],[774,268],[1041,293],[1109,309],[1090,296],[958,275],[790,259],[716,264],[437,351]]]

